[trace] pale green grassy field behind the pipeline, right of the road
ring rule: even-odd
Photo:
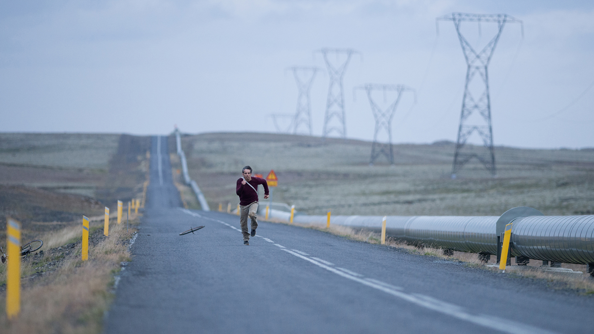
[[[274,169],[274,201],[323,215],[501,215],[530,206],[545,215],[594,213],[594,149],[496,147],[497,178],[475,163],[450,178],[453,143],[398,144],[396,164],[369,166],[371,143],[258,133],[182,138],[188,167],[214,208],[235,207],[241,168]],[[476,150],[481,147],[475,147]]]

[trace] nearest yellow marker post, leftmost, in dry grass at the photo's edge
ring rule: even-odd
[[[6,232],[6,315],[12,319],[21,311],[21,224],[7,217]]]

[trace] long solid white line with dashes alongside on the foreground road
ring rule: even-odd
[[[541,333],[541,334],[555,334],[554,332],[550,332],[548,330],[540,329],[538,327],[533,327],[527,324],[514,322],[509,319],[503,319],[499,317],[492,317],[486,316],[485,314],[470,314],[467,313],[462,307],[454,304],[445,303],[443,301],[436,300],[435,298],[431,298],[424,295],[419,294],[407,294],[406,292],[397,291],[396,289],[388,288],[383,284],[374,283],[372,281],[361,279],[356,276],[350,275],[348,273],[342,272],[338,269],[333,267],[328,267],[326,264],[320,263],[318,261],[309,259],[308,257],[302,256],[301,254],[297,254],[293,251],[287,250],[286,248],[282,248],[283,251],[287,253],[293,254],[296,257],[309,261],[316,266],[322,267],[330,272],[335,273],[336,275],[342,276],[344,278],[350,279],[351,281],[355,281],[361,283],[363,285],[369,286],[370,288],[378,289],[380,291],[386,292],[387,294],[393,295],[394,297],[401,298],[403,300],[409,301],[410,303],[419,305],[421,307],[428,308],[429,310],[433,310],[439,313],[446,314],[448,316],[455,317],[457,319],[466,320],[467,322],[478,324],[480,326],[488,327],[495,330],[500,330],[501,332],[510,333],[510,334],[533,334],[533,333]]]

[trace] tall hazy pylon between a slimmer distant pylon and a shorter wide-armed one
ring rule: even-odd
[[[324,48],[318,52],[324,55],[324,62],[326,62],[326,68],[328,69],[328,77],[330,77],[322,138],[326,138],[328,137],[328,134],[336,131],[340,137],[346,139],[345,93],[343,91],[342,78],[345,76],[346,67],[349,65],[350,57],[354,53],[359,52],[353,49],[330,48]],[[330,54],[336,55],[336,62],[333,63],[328,59],[328,55]],[[345,55],[346,59],[340,61],[340,55]]]

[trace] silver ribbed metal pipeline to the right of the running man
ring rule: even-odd
[[[380,232],[382,218],[332,216],[330,223]],[[293,221],[325,226],[326,219],[296,215]],[[536,209],[516,207],[501,216],[387,216],[386,235],[415,245],[497,255],[497,236],[510,222],[511,256],[594,263],[594,215],[543,216]]]

